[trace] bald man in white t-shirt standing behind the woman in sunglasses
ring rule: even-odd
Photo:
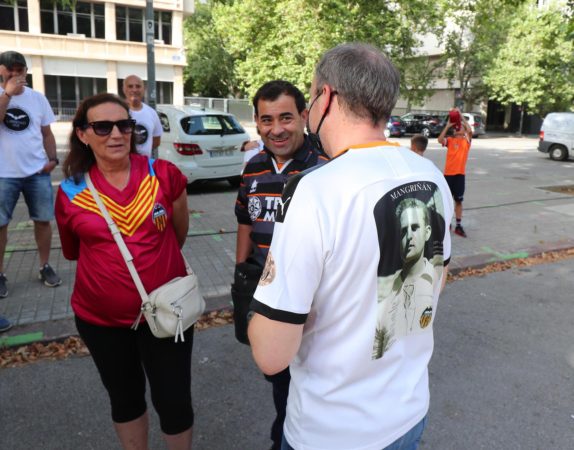
[[[152,150],[160,146],[161,127],[160,118],[156,111],[142,102],[145,94],[144,82],[137,75],[130,75],[123,80],[123,95],[130,104],[130,115],[135,120],[135,147],[139,154],[152,156]]]

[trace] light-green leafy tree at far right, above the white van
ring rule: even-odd
[[[560,2],[521,7],[484,76],[491,98],[542,116],[574,110],[574,42],[568,40],[564,7]]]

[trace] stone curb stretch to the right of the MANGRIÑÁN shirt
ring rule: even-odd
[[[480,255],[453,258],[451,259],[451,263],[448,265],[448,271],[453,275],[457,275],[466,269],[484,269],[484,267],[495,262],[510,262],[515,259],[538,256],[550,251],[569,250],[573,248],[574,240],[568,239],[561,242],[545,242],[537,244],[532,247],[526,247],[526,249],[513,254],[504,254],[498,251],[492,251],[491,253]]]

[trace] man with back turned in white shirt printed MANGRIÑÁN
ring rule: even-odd
[[[332,159],[287,181],[251,302],[255,362],[292,376],[282,450],[414,450],[426,424],[453,203],[432,162],[385,141],[399,83],[369,44],[315,71],[307,130]]]

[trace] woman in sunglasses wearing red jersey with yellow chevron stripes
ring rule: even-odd
[[[148,448],[147,375],[168,449],[189,450],[193,327],[177,343],[154,337],[146,324],[130,329],[141,297],[83,174],[90,173],[148,293],[187,274],[180,254],[189,226],[187,179],[170,162],[136,153],[135,121],[116,95],[84,100],[72,125],[56,221],[64,257],[77,261],[77,331],[110,396],[123,449]]]

